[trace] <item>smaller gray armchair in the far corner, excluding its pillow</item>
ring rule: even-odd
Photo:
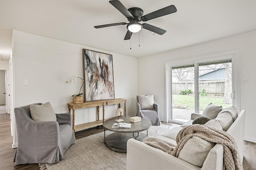
[[[160,117],[159,117],[159,105],[154,101],[153,109],[141,109],[141,105],[137,96],[137,114],[136,116],[142,117],[144,119],[148,119],[151,121],[152,125],[161,125]]]

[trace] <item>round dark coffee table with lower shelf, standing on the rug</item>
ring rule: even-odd
[[[148,128],[151,126],[151,122],[147,119],[141,118],[140,122],[132,123],[130,122],[130,117],[120,117],[124,119],[122,123],[131,123],[131,128],[111,128],[117,118],[109,119],[103,122],[104,128],[104,143],[106,147],[117,152],[126,152],[127,141],[130,138],[134,138],[138,141],[143,141],[148,136]],[[105,136],[105,131],[113,131],[107,137]],[[140,133],[141,131],[147,130],[147,134]]]

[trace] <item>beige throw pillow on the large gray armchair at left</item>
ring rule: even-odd
[[[30,115],[34,121],[57,121],[50,102],[42,105],[30,105]]]

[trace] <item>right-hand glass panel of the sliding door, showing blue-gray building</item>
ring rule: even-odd
[[[232,106],[232,60],[199,63],[199,109]]]

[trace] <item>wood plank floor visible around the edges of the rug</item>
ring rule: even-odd
[[[171,125],[172,127],[180,126],[174,123],[163,124]],[[75,133],[76,139],[87,137],[104,131],[102,127],[91,128]],[[14,152],[12,149],[12,136],[10,128],[10,115],[0,115],[0,170],[40,170],[38,164],[15,165],[13,160]],[[256,143],[244,141],[244,170],[256,170]]]

